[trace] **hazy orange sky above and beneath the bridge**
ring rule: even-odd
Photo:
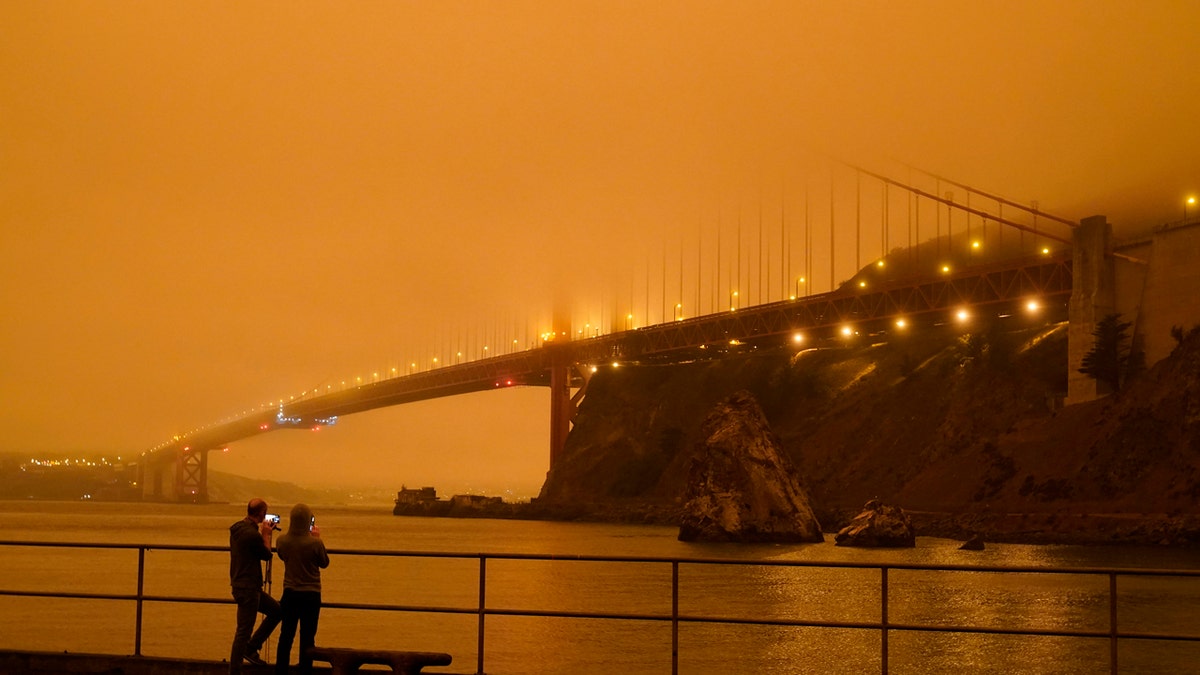
[[[796,213],[814,153],[1178,220],[1198,26],[1186,0],[0,4],[0,452],[134,455],[556,297],[612,312],[664,249]],[[528,492],[547,400],[211,466]]]

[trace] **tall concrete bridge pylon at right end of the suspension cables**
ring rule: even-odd
[[[1112,226],[1104,216],[1080,221],[1074,231],[1070,324],[1067,329],[1067,404],[1081,404],[1108,394],[1106,386],[1079,372],[1092,350],[1096,324],[1116,311],[1116,274]]]

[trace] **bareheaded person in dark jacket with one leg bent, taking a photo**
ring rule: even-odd
[[[266,513],[260,498],[246,504],[246,518],[229,526],[229,586],[238,603],[238,629],[229,651],[229,673],[241,673],[241,661],[263,665],[258,650],[280,625],[280,603],[263,589],[263,561],[270,569],[271,532],[278,528],[280,516]],[[270,574],[270,572],[268,572]],[[251,635],[254,619],[263,615],[263,623]]]

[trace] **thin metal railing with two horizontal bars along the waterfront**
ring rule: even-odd
[[[224,546],[197,546],[197,545],[149,545],[149,544],[90,544],[90,543],[52,543],[52,542],[4,542],[0,540],[0,551],[12,546],[34,548],[72,548],[72,549],[125,549],[137,550],[138,573],[136,593],[88,593],[65,591],[31,591],[31,590],[7,590],[0,589],[0,596],[41,597],[41,598],[74,598],[91,601],[127,601],[136,603],[137,611],[133,626],[134,656],[142,656],[142,632],[143,632],[143,607],[146,603],[206,603],[206,604],[232,604],[228,598],[212,597],[188,597],[188,596],[161,596],[144,592],[145,581],[145,554],[150,550],[173,551],[227,551]],[[679,626],[685,623],[726,623],[726,625],[751,625],[751,626],[787,626],[787,627],[816,627],[816,628],[850,628],[862,631],[877,631],[880,633],[880,656],[882,673],[888,673],[888,635],[895,632],[925,632],[925,633],[973,633],[994,635],[1031,635],[1031,637],[1062,637],[1062,638],[1092,638],[1109,640],[1109,664],[1110,671],[1118,673],[1117,644],[1120,640],[1169,640],[1200,644],[1200,634],[1177,633],[1153,633],[1153,632],[1128,632],[1122,631],[1117,622],[1117,578],[1192,578],[1200,579],[1200,571],[1193,569],[1139,569],[1139,568],[1046,568],[1046,567],[989,567],[989,566],[932,566],[932,565],[905,565],[905,563],[856,563],[856,562],[814,562],[814,561],[781,561],[781,560],[727,560],[727,558],[683,558],[683,557],[637,557],[637,556],[596,556],[596,555],[540,555],[540,554],[484,554],[484,552],[427,552],[427,551],[374,551],[374,550],[347,550],[330,549],[330,555],[336,556],[384,556],[384,557],[422,557],[422,558],[458,558],[475,560],[479,565],[479,603],[475,607],[415,607],[398,604],[364,604],[364,603],[337,603],[325,602],[323,608],[346,610],[371,610],[371,611],[402,611],[402,613],[438,613],[476,615],[479,623],[478,664],[476,673],[484,674],[485,655],[485,621],[488,616],[523,616],[523,617],[552,617],[552,619],[599,619],[599,620],[623,620],[623,621],[652,621],[671,623],[671,649],[672,649],[672,673],[679,671]],[[505,609],[490,607],[487,604],[487,562],[509,561],[553,561],[553,562],[600,562],[600,563],[650,563],[671,567],[671,613],[670,614],[637,614],[637,613],[605,613],[605,611],[553,611],[553,610],[528,610]],[[880,581],[880,619],[878,621],[808,621],[790,619],[748,619],[738,616],[698,616],[684,615],[679,613],[679,568],[683,566],[744,566],[744,567],[805,567],[805,568],[841,568],[841,569],[868,569],[878,571]],[[888,579],[894,571],[911,572],[961,572],[961,573],[1001,573],[1001,574],[1038,574],[1038,575],[1072,575],[1072,577],[1105,577],[1108,578],[1108,628],[1104,631],[1074,631],[1074,629],[1042,629],[1042,628],[1004,628],[983,626],[949,626],[942,623],[899,623],[889,621]]]

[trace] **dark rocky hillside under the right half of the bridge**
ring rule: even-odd
[[[1062,407],[1066,325],[1006,321],[602,370],[539,502],[671,521],[701,422],[748,389],[827,531],[880,498],[923,534],[1200,543],[1200,333]]]

